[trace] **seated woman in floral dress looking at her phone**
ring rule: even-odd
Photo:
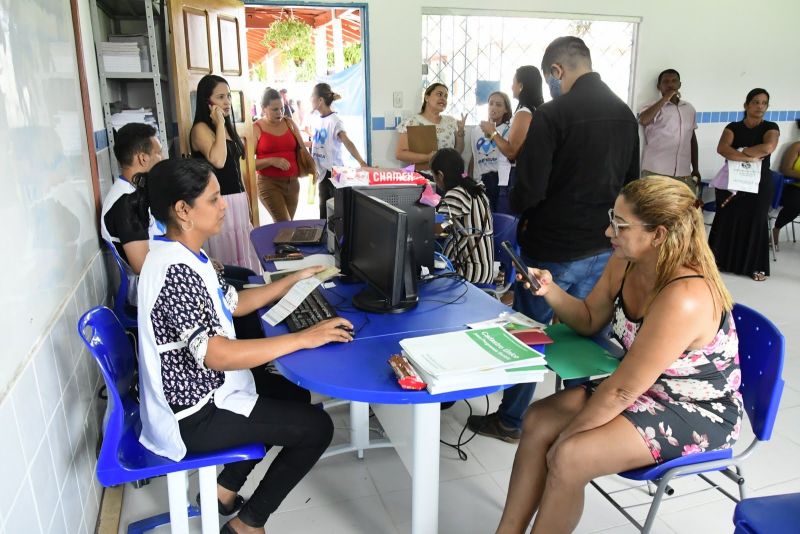
[[[609,210],[606,235],[614,253],[585,300],[548,271],[528,271],[541,287],[525,286],[561,322],[585,336],[610,323],[626,352],[607,378],[528,408],[498,533],[525,531],[534,514],[534,533],[571,532],[591,480],[739,437],[733,302],[694,193],[665,176],[635,180]]]

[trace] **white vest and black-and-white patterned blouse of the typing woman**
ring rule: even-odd
[[[255,406],[249,370],[215,371],[205,364],[212,337],[236,339],[238,294],[208,256],[157,236],[139,277],[139,441],[178,461],[186,454],[178,421],[209,402],[249,416]]]

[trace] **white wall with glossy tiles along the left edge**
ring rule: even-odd
[[[3,1],[0,21],[0,532],[88,534],[100,376],[76,323],[107,282],[70,3]]]

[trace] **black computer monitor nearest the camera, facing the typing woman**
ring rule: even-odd
[[[367,287],[353,306],[375,313],[401,313],[417,305],[417,275],[408,215],[391,204],[353,191],[349,267]]]

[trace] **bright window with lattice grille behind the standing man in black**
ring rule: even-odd
[[[484,120],[489,93],[501,90],[511,97],[518,67],[540,68],[553,39],[574,35],[591,50],[593,70],[630,103],[637,26],[635,20],[423,14],[422,86],[444,83],[450,88],[450,115],[468,113],[470,123]],[[550,100],[546,84],[542,91]]]

